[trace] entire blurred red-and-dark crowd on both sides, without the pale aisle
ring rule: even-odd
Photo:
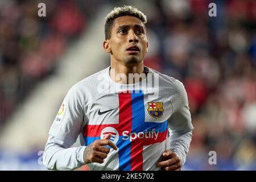
[[[106,2],[131,4],[47,1],[42,18],[36,1],[0,6],[0,125],[55,71],[68,44]],[[208,15],[210,2],[134,1],[148,18],[144,64],[187,90],[195,127],[188,168],[256,170],[256,1],[213,1],[216,17]],[[216,151],[217,165],[209,165],[209,151]]]

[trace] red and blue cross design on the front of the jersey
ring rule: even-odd
[[[119,123],[106,125],[85,125],[84,140],[85,145],[100,139],[101,131],[105,127],[114,127],[119,134],[118,147],[119,170],[138,171],[143,170],[143,146],[163,142],[167,137],[167,121],[165,122],[145,122],[144,94],[139,93],[119,93]],[[123,131],[129,133],[139,133],[155,129],[159,131],[156,139],[136,138],[134,140],[123,140]],[[159,156],[160,157],[160,156]]]

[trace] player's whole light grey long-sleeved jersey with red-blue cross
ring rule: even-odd
[[[69,90],[49,130],[44,165],[79,168],[85,164],[86,146],[110,133],[118,150],[110,148],[104,163],[91,163],[90,170],[159,170],[156,164],[167,149],[176,152],[183,166],[193,130],[183,84],[147,67],[142,81],[118,84],[109,71],[95,73]],[[79,134],[85,146],[70,148]]]

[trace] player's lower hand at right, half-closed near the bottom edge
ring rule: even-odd
[[[163,160],[158,163],[158,167],[161,167],[164,171],[180,171],[181,162],[177,154],[171,150],[163,152]]]

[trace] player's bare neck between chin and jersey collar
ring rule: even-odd
[[[146,77],[143,60],[141,63],[134,65],[119,64],[117,61],[111,61],[109,75],[114,82],[119,84],[135,84]]]

